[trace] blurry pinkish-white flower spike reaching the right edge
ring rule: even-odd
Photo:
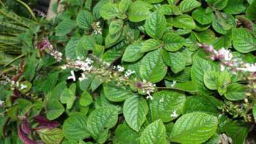
[[[212,45],[202,45],[198,44],[203,48],[205,52],[210,52],[211,60],[219,60],[221,62],[221,71],[224,71],[225,66],[231,67],[232,72],[236,73],[236,71],[249,71],[251,73],[256,72],[256,63],[250,64],[250,63],[244,63],[244,62],[238,62],[236,58],[233,58],[232,53],[229,50],[226,50],[225,48],[221,48],[219,50],[215,50]]]

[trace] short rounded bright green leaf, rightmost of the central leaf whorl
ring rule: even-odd
[[[164,48],[168,51],[177,51],[185,43],[185,39],[175,33],[166,33],[163,35]]]

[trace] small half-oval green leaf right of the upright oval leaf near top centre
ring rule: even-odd
[[[188,14],[182,14],[173,18],[173,26],[178,28],[195,29],[196,23],[191,16],[188,16]]]

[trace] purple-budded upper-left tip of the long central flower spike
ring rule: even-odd
[[[51,45],[51,43],[49,43],[45,37],[43,37],[43,48],[45,49],[45,52],[51,54],[51,56],[53,56],[53,58],[58,62],[62,60],[62,53],[55,50],[53,45]]]

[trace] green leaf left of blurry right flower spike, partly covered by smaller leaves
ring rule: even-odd
[[[206,71],[216,71],[219,70],[217,65],[202,58],[197,57],[191,68],[191,78],[192,81],[198,84],[198,91],[202,94],[211,94],[211,92],[205,87],[203,82],[203,75]]]

